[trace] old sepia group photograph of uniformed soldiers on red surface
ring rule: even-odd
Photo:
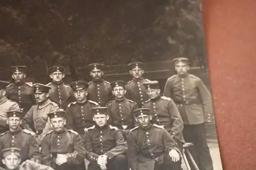
[[[222,170],[202,10],[3,2],[0,169]]]

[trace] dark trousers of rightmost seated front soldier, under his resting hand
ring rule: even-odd
[[[163,163],[155,163],[154,170],[180,170],[181,169],[181,158],[178,162],[172,161],[169,155],[164,156]]]

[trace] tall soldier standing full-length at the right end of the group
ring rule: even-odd
[[[212,170],[205,129],[213,112],[210,92],[201,79],[187,73],[187,58],[176,58],[174,64],[177,75],[167,79],[164,96],[172,98],[180,111],[184,123],[183,136],[186,142],[194,143],[191,154],[199,169]]]

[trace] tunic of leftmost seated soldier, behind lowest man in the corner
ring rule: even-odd
[[[15,132],[7,131],[0,136],[0,149],[19,148],[20,158],[23,161],[27,159],[40,159],[39,145],[32,132],[18,129]]]

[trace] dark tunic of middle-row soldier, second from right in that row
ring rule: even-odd
[[[136,102],[129,99],[115,99],[108,104],[108,115],[110,116],[110,124],[118,129],[132,129],[135,125],[135,117],[133,111],[138,108]]]

